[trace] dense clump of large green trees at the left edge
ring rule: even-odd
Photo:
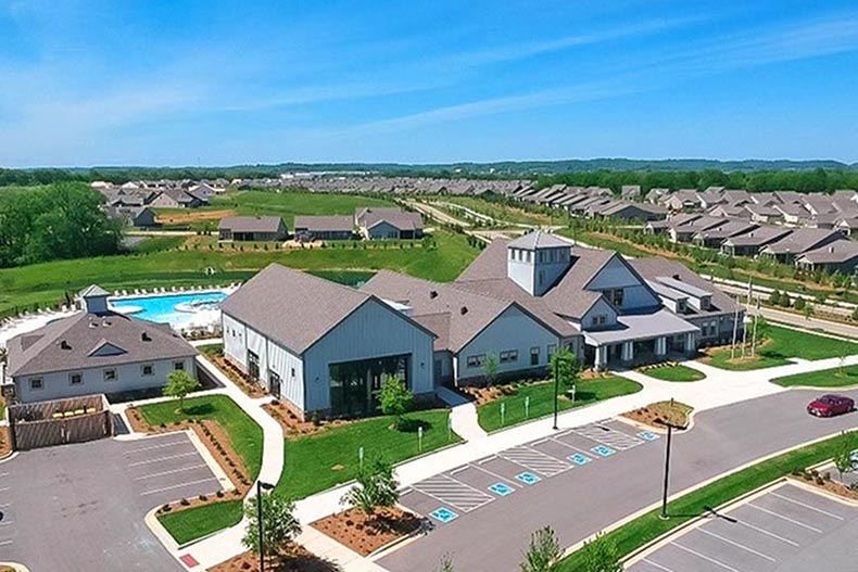
[[[122,228],[103,202],[79,182],[0,193],[0,268],[119,252]]]

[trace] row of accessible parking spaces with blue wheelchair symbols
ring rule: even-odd
[[[401,503],[443,525],[567,471],[609,462],[659,438],[616,420],[591,423],[420,481],[403,492]]]

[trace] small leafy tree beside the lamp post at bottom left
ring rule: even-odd
[[[301,534],[301,523],[294,516],[295,505],[277,494],[262,494],[262,524],[264,558],[279,555],[287,545]],[[241,544],[253,552],[260,554],[260,516],[256,503],[244,505],[244,517],[248,519]]]

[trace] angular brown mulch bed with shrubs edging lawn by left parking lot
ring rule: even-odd
[[[211,453],[212,457],[214,457],[217,465],[220,466],[224,473],[226,473],[227,478],[235,486],[232,491],[217,491],[212,495],[200,495],[199,497],[182,498],[169,503],[162,506],[157,510],[157,514],[209,505],[217,503],[218,500],[243,498],[244,495],[248,494],[248,491],[250,491],[252,485],[250,471],[244,465],[244,460],[241,456],[236,453],[232,442],[229,440],[229,434],[219,423],[203,419],[200,421],[180,421],[171,424],[151,425],[136,407],[129,407],[126,414],[131,429],[141,433],[160,434],[173,431],[185,431],[187,429],[192,430],[197,436],[200,437],[200,441],[205,445],[205,448],[209,449],[209,453]]]

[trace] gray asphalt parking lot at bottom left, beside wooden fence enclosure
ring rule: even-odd
[[[184,433],[24,452],[0,463],[0,561],[31,572],[181,571],[143,517],[219,488]]]

